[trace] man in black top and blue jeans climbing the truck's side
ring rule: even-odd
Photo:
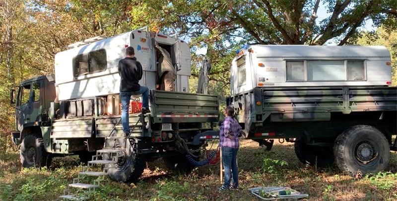
[[[142,94],[142,113],[148,113],[149,110],[149,89],[146,86],[140,86],[139,80],[142,78],[142,66],[136,61],[135,52],[132,47],[126,48],[126,58],[119,62],[120,80],[120,99],[122,104],[121,121],[124,135],[130,134],[129,107],[132,95]]]

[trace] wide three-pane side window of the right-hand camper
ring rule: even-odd
[[[366,80],[363,60],[286,61],[287,81]]]

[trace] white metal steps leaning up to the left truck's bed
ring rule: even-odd
[[[64,190],[64,195],[60,196],[64,200],[84,201],[88,200],[90,194],[101,186],[101,182],[108,175],[109,166],[117,162],[122,156],[124,149],[122,148],[103,148],[96,151],[96,155],[92,156],[92,160],[88,161],[87,166],[83,167],[82,172],[78,173],[77,178],[73,179],[73,183],[69,184]],[[105,154],[112,156],[112,160],[103,160]],[[102,168],[100,167],[102,166]],[[102,169],[102,171],[100,171]],[[97,171],[99,170],[99,171]]]

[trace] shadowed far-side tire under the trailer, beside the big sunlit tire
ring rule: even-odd
[[[310,145],[305,138],[295,140],[295,154],[299,161],[311,166],[321,167],[334,161],[332,147]]]

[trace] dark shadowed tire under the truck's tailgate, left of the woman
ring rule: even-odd
[[[185,155],[164,156],[164,165],[168,171],[189,174],[195,168]]]

